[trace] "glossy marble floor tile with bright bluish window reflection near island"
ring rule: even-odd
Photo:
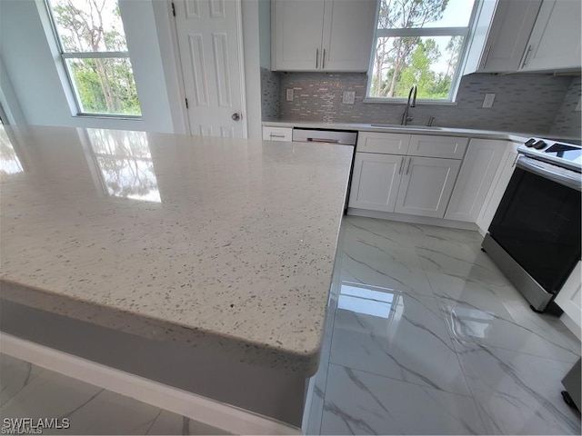
[[[342,282],[330,362],[469,395],[432,297]]]

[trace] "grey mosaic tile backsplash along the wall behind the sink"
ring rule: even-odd
[[[364,103],[365,73],[269,74],[279,77],[279,109],[276,98],[266,98],[264,89],[264,113],[274,114],[264,120],[400,124],[404,104]],[[288,88],[294,89],[292,102],[285,98]],[[344,91],[356,92],[355,104],[342,104]],[[496,94],[490,109],[482,107],[488,93]],[[457,104],[417,104],[410,109],[414,118],[410,124],[424,125],[434,116],[438,126],[579,137],[580,113],[575,112],[579,95],[579,77],[469,74],[461,80]]]

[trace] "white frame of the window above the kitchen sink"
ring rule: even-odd
[[[467,26],[453,26],[453,27],[408,27],[408,28],[378,28],[378,15],[380,13],[380,7],[382,0],[378,0],[376,8],[376,28],[374,30],[374,37],[372,40],[372,52],[370,55],[370,64],[367,70],[367,84],[366,84],[366,96],[364,98],[364,103],[382,103],[382,104],[403,104],[406,103],[406,97],[376,97],[370,96],[370,87],[372,85],[372,76],[374,73],[374,64],[376,60],[376,46],[378,38],[382,37],[429,37],[429,36],[463,36],[465,39],[463,41],[463,46],[458,55],[457,68],[455,69],[455,74],[451,78],[451,86],[448,91],[448,96],[446,98],[417,98],[416,104],[441,104],[441,105],[456,105],[458,86],[461,82],[462,74],[464,70],[465,62],[467,58],[467,51],[469,47],[469,39],[471,37],[472,29],[475,25],[475,20],[477,19],[477,11],[480,7],[481,0],[475,0],[473,4],[473,9],[471,10],[471,15],[469,16],[469,22]]]

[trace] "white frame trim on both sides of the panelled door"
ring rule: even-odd
[[[245,51],[243,49],[244,42],[243,42],[243,14],[242,14],[242,0],[225,0],[226,2],[235,2],[235,9],[236,9],[236,37],[237,37],[237,44],[236,44],[236,51],[238,54],[239,59],[239,71],[238,71],[238,84],[240,86],[240,96],[241,96],[241,123],[242,130],[243,130],[243,138],[248,138],[248,110],[246,107],[246,80],[245,80]],[[174,57],[176,60],[176,73],[177,73],[177,82],[178,88],[180,92],[181,102],[180,102],[180,110],[182,113],[182,118],[184,120],[186,126],[186,134],[193,136],[192,128],[190,125],[190,117],[188,116],[188,109],[186,108],[186,85],[184,81],[184,74],[182,69],[182,58],[180,57],[180,46],[178,45],[178,29],[176,25],[176,15],[173,14],[173,9],[176,7],[175,3],[185,3],[186,0],[171,0],[167,2],[167,11],[168,11],[168,18],[170,22],[170,28],[172,33],[172,45],[174,49]],[[192,97],[190,97],[192,98]]]

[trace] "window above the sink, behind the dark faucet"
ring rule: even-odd
[[[367,97],[452,101],[474,0],[380,0]]]

